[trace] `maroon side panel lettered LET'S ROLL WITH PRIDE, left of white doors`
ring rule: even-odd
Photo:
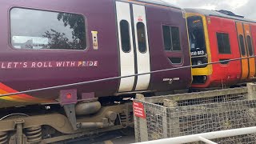
[[[10,25],[14,27],[19,26],[21,30],[26,28],[28,29],[27,31],[35,30],[31,33],[40,30],[40,26],[42,25],[49,25],[49,22],[44,22],[45,18],[43,16],[38,17],[38,15],[34,15],[33,17],[33,13],[31,13],[30,17],[34,19],[31,26],[21,26],[22,21],[20,21],[21,23],[17,23],[17,18],[21,14],[17,13],[17,16],[11,14],[11,12],[14,13],[12,11],[14,7],[21,8],[22,10],[31,10],[33,8],[32,10],[39,10],[40,12],[49,11],[58,14],[82,14],[86,22],[86,47],[83,47],[86,50],[22,50],[21,48],[17,48],[17,46],[14,48],[11,44],[14,41],[14,37],[27,38],[34,37],[34,35],[22,35],[22,33],[15,35]],[[74,82],[86,82],[100,78],[112,78],[119,75],[118,42],[113,1],[54,0],[46,2],[40,0],[10,0],[2,2],[0,11],[1,94],[48,86],[59,86]],[[10,22],[11,18],[16,18],[15,22],[14,20]],[[55,20],[57,19],[56,17]],[[59,19],[59,22],[63,22],[63,25],[65,25],[64,19]],[[69,26],[68,22],[66,23]],[[37,26],[38,29],[36,28]],[[51,27],[47,31],[51,32]],[[94,49],[92,32],[98,34],[97,50]],[[10,34],[12,35],[10,36]],[[42,39],[42,36],[40,38]],[[16,41],[22,40],[16,39]],[[18,64],[14,62],[18,62]],[[77,89],[79,94],[95,92],[96,96],[107,96],[114,94],[117,88],[118,80],[116,79],[90,85],[73,86],[66,89]],[[28,94],[27,99],[24,99],[25,97],[22,95],[13,96],[10,97],[14,101],[11,105],[21,105],[22,102],[36,102],[30,95],[35,98],[56,99],[58,98],[59,90],[62,89],[48,90],[47,93]],[[1,106],[10,105],[6,101],[3,101],[1,102]]]

